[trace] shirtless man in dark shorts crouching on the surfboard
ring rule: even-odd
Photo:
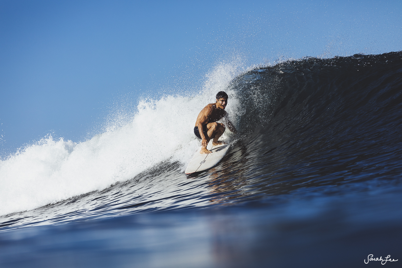
[[[209,154],[210,150],[207,150],[208,142],[213,138],[212,145],[224,144],[222,141],[218,141],[219,137],[225,132],[225,125],[217,123],[216,121],[224,119],[229,130],[236,133],[232,122],[228,118],[228,113],[225,111],[225,107],[228,104],[228,94],[224,91],[219,91],[216,94],[216,103],[210,103],[201,110],[195,122],[194,134],[202,140],[201,142],[201,154]]]

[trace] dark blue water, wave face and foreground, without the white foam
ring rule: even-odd
[[[229,87],[244,114],[217,167],[166,161],[2,216],[0,266],[400,267],[402,52],[282,62]]]

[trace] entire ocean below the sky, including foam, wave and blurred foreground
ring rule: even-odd
[[[239,133],[185,175],[220,90]],[[401,132],[402,52],[217,68],[3,157],[0,267],[401,267]]]

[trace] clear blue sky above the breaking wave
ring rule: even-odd
[[[402,50],[401,1],[0,0],[2,154],[88,138],[120,99],[196,92],[219,62]]]

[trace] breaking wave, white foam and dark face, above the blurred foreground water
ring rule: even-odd
[[[233,74],[220,73],[197,96],[142,101],[125,124],[86,142],[48,137],[1,161],[0,225],[400,186],[402,52],[304,58]],[[229,94],[240,134],[225,133],[232,147],[217,167],[186,176],[200,144],[195,119],[219,90]]]

